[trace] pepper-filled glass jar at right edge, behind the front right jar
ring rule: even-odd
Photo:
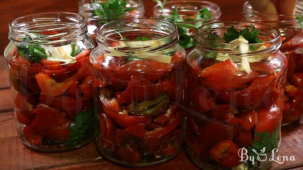
[[[267,14],[255,11],[248,2],[243,15],[248,21],[269,24],[281,32],[280,50],[288,58],[282,125],[299,121],[303,113],[303,1],[298,0],[295,15]]]

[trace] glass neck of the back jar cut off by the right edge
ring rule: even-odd
[[[279,28],[302,28],[303,21],[299,18],[303,18],[303,1],[297,0],[297,4],[294,10],[294,14],[272,14],[257,11],[252,8],[249,2],[245,2],[243,5],[243,15],[248,21],[252,22],[266,22],[267,24]]]

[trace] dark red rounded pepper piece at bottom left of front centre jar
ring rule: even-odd
[[[127,163],[135,164],[141,159],[138,148],[135,146],[122,146],[116,149],[118,157]]]

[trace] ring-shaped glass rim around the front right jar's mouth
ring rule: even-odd
[[[259,52],[262,53],[262,52],[268,52],[268,51],[274,51],[275,52],[277,49],[280,48],[280,46],[282,45],[281,33],[277,28],[274,28],[270,25],[265,25],[264,23],[261,23],[261,22],[249,22],[249,21],[214,22],[214,23],[210,23],[210,24],[201,26],[196,31],[196,37],[195,37],[195,41],[197,42],[196,44],[199,47],[205,48],[209,51],[235,53],[235,50],[218,49],[218,48],[214,48],[214,47],[205,45],[205,44],[216,44],[218,46],[240,45],[240,44],[230,44],[230,43],[227,43],[227,42],[220,42],[220,41],[216,41],[216,40],[210,40],[206,37],[207,32],[211,29],[214,29],[214,28],[216,28],[216,29],[219,29],[219,28],[227,29],[227,28],[229,28],[227,26],[231,26],[231,25],[245,28],[245,27],[250,26],[250,24],[253,24],[254,26],[261,26],[263,29],[268,30],[270,33],[272,33],[273,38],[271,38],[267,41],[264,41],[264,42],[249,43],[249,44],[245,44],[245,45],[246,46],[248,45],[248,47],[256,46],[256,45],[264,45],[264,44],[271,44],[271,45],[266,46],[265,49],[257,49],[257,50],[254,50],[254,51],[241,53],[241,55],[243,55],[243,54],[250,55],[251,53],[259,53]],[[223,27],[220,27],[220,26],[223,26]],[[203,43],[203,45],[200,45],[201,43]]]

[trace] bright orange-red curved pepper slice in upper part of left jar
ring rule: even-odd
[[[86,67],[81,67],[79,71],[67,80],[58,83],[49,77],[47,74],[36,74],[37,83],[44,94],[52,96],[62,95],[74,81],[80,79],[85,75]]]

